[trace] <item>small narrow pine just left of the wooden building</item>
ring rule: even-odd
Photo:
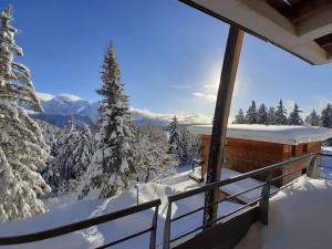
[[[183,158],[181,134],[178,127],[177,117],[174,116],[169,124],[169,153],[174,154],[178,160]]]

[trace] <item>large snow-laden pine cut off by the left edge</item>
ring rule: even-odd
[[[43,212],[40,199],[50,191],[39,172],[49,147],[37,123],[20,106],[42,111],[27,66],[13,61],[23,55],[10,25],[12,8],[0,13],[0,220]]]

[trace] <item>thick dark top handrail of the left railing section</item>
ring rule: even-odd
[[[152,200],[148,203],[141,204],[138,206],[129,207],[126,209],[122,209],[118,211],[114,211],[107,215],[94,217],[91,219],[82,220],[79,222],[56,227],[49,230],[43,230],[39,232],[28,234],[28,235],[20,235],[20,236],[10,236],[10,237],[2,237],[0,238],[0,245],[18,245],[18,243],[27,243],[33,242],[44,239],[50,239],[59,236],[63,236],[66,234],[71,234],[73,231],[82,230],[92,226],[96,226],[100,224],[104,224],[114,219],[120,219],[125,216],[134,215],[139,211],[144,211],[146,209],[159,206],[162,204],[160,199]]]

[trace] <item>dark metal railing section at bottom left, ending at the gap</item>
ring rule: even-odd
[[[134,207],[129,207],[126,209],[122,209],[118,211],[114,211],[107,215],[103,215],[103,216],[97,216],[91,219],[86,219],[86,220],[82,220],[79,222],[74,222],[74,224],[70,224],[66,226],[61,226],[61,227],[56,227],[53,229],[49,229],[49,230],[43,230],[43,231],[39,231],[39,232],[33,232],[33,234],[28,234],[28,235],[20,235],[20,236],[11,236],[11,237],[1,237],[0,238],[0,246],[6,246],[6,245],[19,245],[19,243],[28,243],[28,242],[35,242],[35,241],[40,241],[40,240],[45,240],[45,239],[51,239],[54,237],[60,237],[60,236],[64,236],[77,230],[82,230],[82,229],[86,229],[90,228],[92,226],[97,226],[101,224],[105,224],[115,219],[120,219],[129,215],[134,215],[136,212],[141,212],[151,208],[155,208],[154,209],[154,216],[152,219],[152,226],[149,228],[146,228],[144,230],[141,230],[138,232],[132,234],[129,236],[126,236],[122,239],[108,242],[106,245],[103,245],[101,247],[97,248],[108,248],[112,247],[114,245],[124,242],[126,240],[133,239],[135,237],[142,236],[144,234],[151,232],[151,237],[149,237],[149,249],[155,249],[156,248],[156,230],[157,230],[157,218],[158,218],[158,207],[160,205],[160,199],[156,199],[156,200],[152,200],[148,203],[144,203]]]

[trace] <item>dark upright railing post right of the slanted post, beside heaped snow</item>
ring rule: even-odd
[[[259,201],[259,220],[263,225],[269,224],[269,201],[272,175],[273,172],[268,174],[267,184],[261,189],[261,200]]]

